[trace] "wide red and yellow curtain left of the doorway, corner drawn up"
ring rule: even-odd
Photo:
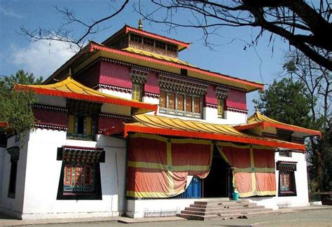
[[[213,144],[135,134],[129,139],[127,196],[167,198],[186,190],[188,175],[207,177]]]

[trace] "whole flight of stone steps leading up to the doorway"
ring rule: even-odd
[[[240,201],[195,201],[190,207],[181,210],[179,216],[185,219],[210,220],[210,219],[247,219],[250,216],[262,214],[280,214],[279,211],[258,206],[248,200]]]

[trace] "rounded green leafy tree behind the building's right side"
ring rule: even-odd
[[[259,92],[259,99],[253,102],[262,114],[277,121],[310,128],[310,97],[305,96],[305,87],[299,81],[291,78],[282,78],[273,81],[265,91]]]

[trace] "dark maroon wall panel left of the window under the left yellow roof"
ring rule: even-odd
[[[48,111],[46,109],[32,109],[36,123],[50,123],[67,126],[68,115],[63,111]]]

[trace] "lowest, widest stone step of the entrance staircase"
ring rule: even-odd
[[[259,215],[267,215],[267,214],[273,214],[277,215],[280,214],[281,212],[279,211],[267,211],[267,212],[253,212],[250,214],[241,214],[241,213],[236,213],[236,214],[221,214],[221,215],[198,215],[198,214],[178,214],[184,219],[190,219],[190,220],[212,220],[212,219],[237,219],[240,216],[243,217],[250,217],[250,216],[259,216]]]

